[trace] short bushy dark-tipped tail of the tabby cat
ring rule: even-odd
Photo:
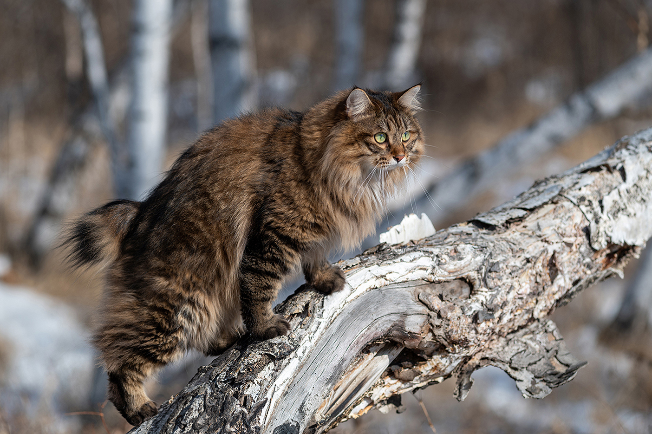
[[[115,200],[70,224],[61,243],[68,249],[68,261],[90,266],[115,260],[139,208],[135,200]]]

